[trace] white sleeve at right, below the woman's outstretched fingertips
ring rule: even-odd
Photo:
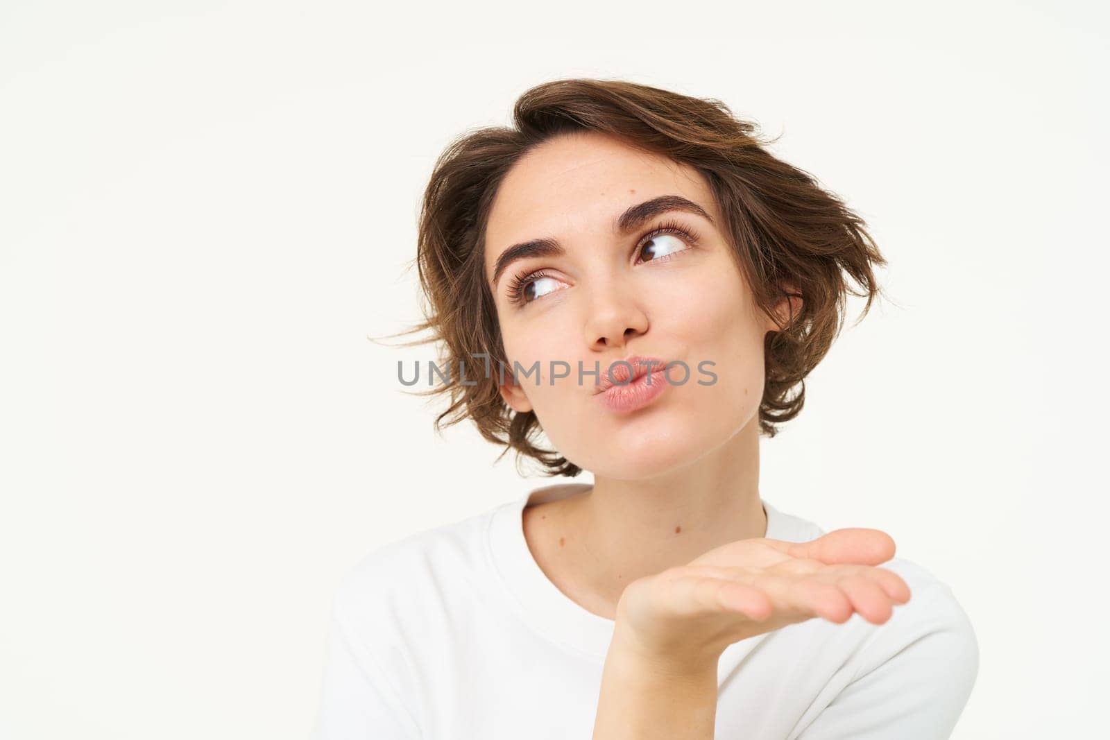
[[[948,586],[927,599],[901,628],[876,630],[862,648],[855,678],[797,740],[951,736],[979,671],[979,645]],[[894,627],[892,618],[886,626]]]

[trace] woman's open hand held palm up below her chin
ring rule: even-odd
[[[859,527],[807,543],[729,543],[629,584],[610,649],[684,675],[716,666],[733,642],[814,617],[882,624],[910,597],[898,575],[875,567],[894,555],[889,535]]]

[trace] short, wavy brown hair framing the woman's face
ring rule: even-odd
[[[847,294],[867,298],[861,320],[881,293],[872,265],[886,260],[858,215],[813,175],[773,156],[764,146],[774,140],[761,139],[756,124],[735,116],[723,102],[598,79],[531,88],[513,107],[512,128],[462,134],[435,162],[413,261],[425,321],[391,336],[431,330],[430,338],[403,346],[441,342],[446,349],[437,366],[450,363],[447,382],[417,394],[450,397],[450,407],[435,419],[436,432],[468,417],[484,438],[505,445],[502,456],[517,450],[518,467],[525,456],[547,476],[582,472],[556,450],[537,446],[542,428],[535,413],[514,412],[498,392],[498,373],[490,372],[502,366],[497,363],[506,368],[511,363],[485,280],[484,241],[494,195],[509,169],[538,144],[584,131],[668,156],[708,181],[754,300],[779,326],[765,337],[759,405],[760,433],[774,437],[777,425],[801,410],[805,378],[840,333]],[[852,290],[846,276],[861,290]],[[800,297],[800,307],[784,324],[774,306],[787,295]],[[470,378],[465,384],[457,382],[458,368]]]

